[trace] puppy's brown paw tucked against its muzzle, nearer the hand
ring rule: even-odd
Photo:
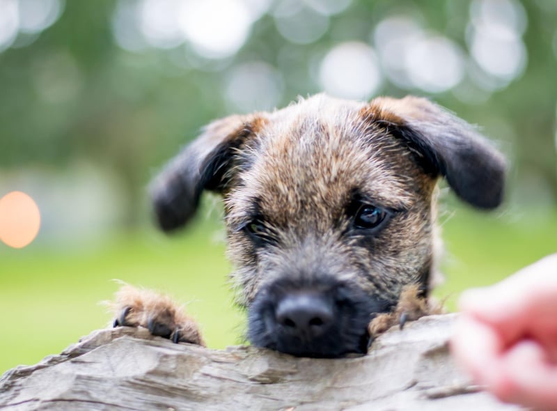
[[[402,329],[408,321],[415,321],[424,316],[440,314],[443,312],[442,304],[433,302],[430,297],[423,297],[423,293],[417,285],[402,288],[398,304],[390,313],[380,313],[368,325],[370,344],[377,336],[386,332],[387,329],[398,325]]]

